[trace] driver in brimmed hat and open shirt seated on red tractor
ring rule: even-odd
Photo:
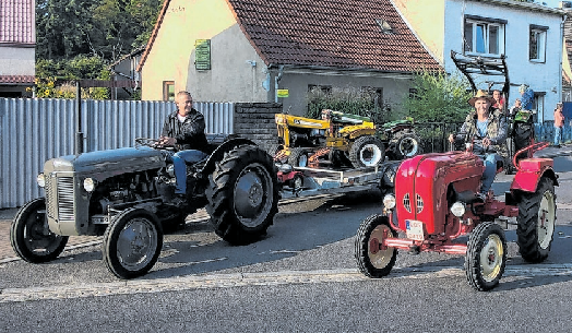
[[[477,91],[475,96],[468,99],[468,104],[475,110],[468,114],[456,135],[449,135],[449,141],[452,143],[470,140],[473,152],[484,159],[485,171],[479,191],[484,197],[487,195],[494,181],[497,162],[504,160],[501,154],[505,153],[507,121],[501,110],[490,109],[494,102],[494,98],[490,97],[486,91]],[[473,139],[476,140],[473,141]]]

